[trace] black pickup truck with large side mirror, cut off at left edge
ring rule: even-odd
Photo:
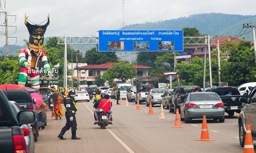
[[[23,110],[16,116],[6,94],[0,90],[1,153],[28,153],[20,126],[35,122],[35,115],[34,111]]]

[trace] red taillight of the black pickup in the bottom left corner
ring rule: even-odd
[[[23,136],[13,136],[13,147],[15,153],[27,153],[26,142]]]

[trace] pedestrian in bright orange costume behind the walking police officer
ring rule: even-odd
[[[52,117],[55,117],[55,119],[58,119],[58,117],[61,119],[61,116],[64,116],[62,107],[61,107],[62,99],[63,98],[57,92],[55,92],[52,96],[52,101],[53,101]]]

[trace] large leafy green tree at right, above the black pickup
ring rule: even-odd
[[[246,82],[256,81],[255,55],[250,41],[226,40],[220,50],[221,82],[239,86]],[[217,51],[212,52],[212,57],[215,59],[213,63],[216,63]]]

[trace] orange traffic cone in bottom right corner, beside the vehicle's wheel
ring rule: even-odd
[[[250,131],[250,125],[246,126],[245,140],[244,140],[244,153],[254,153],[253,138]]]

